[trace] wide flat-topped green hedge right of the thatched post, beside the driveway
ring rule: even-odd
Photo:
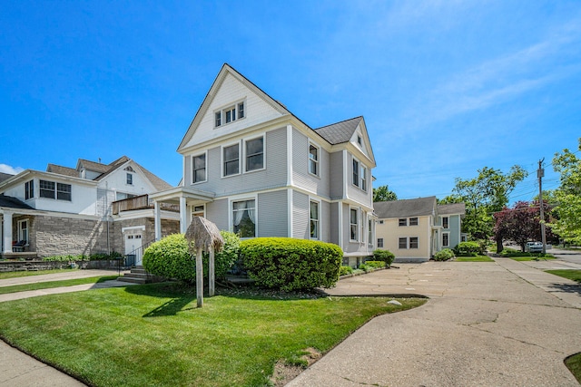
[[[241,242],[241,257],[257,285],[289,292],[335,285],[343,251],[314,240],[257,237]]]

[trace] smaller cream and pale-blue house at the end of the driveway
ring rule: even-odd
[[[461,240],[464,203],[438,206],[436,197],[373,203],[378,217],[377,247],[396,262],[425,262]]]

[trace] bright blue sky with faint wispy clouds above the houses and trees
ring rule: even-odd
[[[375,186],[443,198],[485,166],[558,186],[581,137],[579,1],[3,1],[0,171],[122,155],[177,185],[222,63],[312,128],[364,116]]]

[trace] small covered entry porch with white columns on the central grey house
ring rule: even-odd
[[[188,226],[192,222],[192,216],[205,216],[205,206],[214,200],[215,194],[213,192],[203,191],[202,189],[176,187],[150,194],[149,198],[153,200],[155,240],[159,240],[162,238],[163,205],[177,205],[180,209],[180,232],[185,234]],[[188,208],[192,208],[192,210],[188,211]]]

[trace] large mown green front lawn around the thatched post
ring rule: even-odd
[[[0,336],[94,386],[261,386],[279,360],[327,353],[374,316],[426,300],[218,289],[196,307],[175,284],[0,304]]]

